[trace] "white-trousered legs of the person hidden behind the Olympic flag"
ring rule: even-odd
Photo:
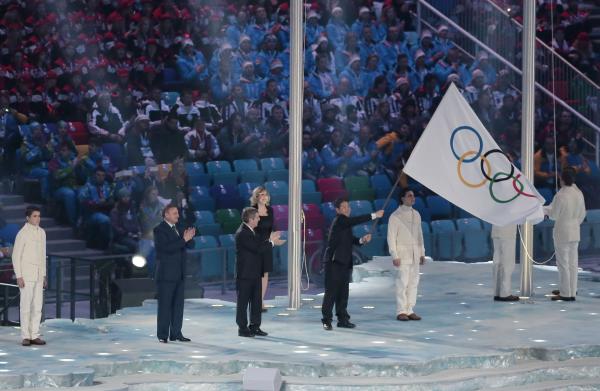
[[[519,296],[510,293],[512,273],[515,270],[516,237],[516,225],[492,226],[494,301],[519,301]]]

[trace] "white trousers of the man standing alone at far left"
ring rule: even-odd
[[[21,339],[40,336],[42,306],[44,304],[44,281],[25,281],[21,288]]]

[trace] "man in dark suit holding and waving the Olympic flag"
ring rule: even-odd
[[[350,276],[352,273],[352,245],[363,245],[369,243],[371,234],[357,238],[352,234],[352,227],[366,223],[369,220],[383,217],[383,210],[375,213],[350,217],[350,204],[345,197],[335,200],[335,211],[337,215],[331,223],[329,237],[327,239],[327,259],[325,260],[325,297],[321,312],[323,313],[323,328],[331,330],[331,319],[333,318],[333,305],[338,318],[338,327],[354,328],[356,325],[350,323],[350,315],[346,310],[348,307],[348,290]]]

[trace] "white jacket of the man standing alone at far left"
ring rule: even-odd
[[[25,223],[17,234],[12,261],[17,278],[43,281],[46,277],[46,232]]]

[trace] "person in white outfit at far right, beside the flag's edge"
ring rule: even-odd
[[[552,203],[544,207],[545,214],[555,221],[552,238],[560,289],[552,291],[552,300],[575,301],[579,267],[579,226],[585,219],[585,202],[581,190],[575,185],[575,169],[572,167],[563,169],[560,186]]]

